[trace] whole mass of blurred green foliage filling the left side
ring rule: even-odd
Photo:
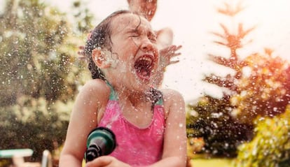
[[[6,1],[0,15],[0,149],[29,147],[40,160],[43,150],[63,142],[72,101],[90,78],[77,55],[83,36],[73,34],[67,20],[39,0]]]

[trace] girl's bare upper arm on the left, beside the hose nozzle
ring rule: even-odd
[[[106,99],[100,98],[106,97],[103,84],[99,80],[90,80],[78,94],[60,155],[60,167],[81,166],[88,133],[97,127],[98,110],[102,108],[101,104]]]

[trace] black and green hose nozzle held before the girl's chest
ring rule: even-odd
[[[116,147],[116,137],[113,131],[105,127],[93,129],[87,139],[85,161],[92,161],[102,155],[108,155]]]

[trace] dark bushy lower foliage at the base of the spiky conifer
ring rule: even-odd
[[[187,127],[190,137],[203,137],[203,152],[216,156],[235,157],[237,145],[251,138],[253,126],[240,124],[230,116],[229,98],[205,96],[197,105],[190,106]]]

